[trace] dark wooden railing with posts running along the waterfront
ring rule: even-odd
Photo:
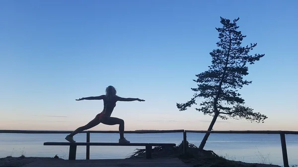
[[[73,131],[53,131],[53,130],[0,130],[0,133],[34,133],[34,134],[57,134],[57,133],[71,133]],[[119,133],[119,131],[97,131],[89,130],[83,131],[81,133],[86,133],[86,142],[90,142],[90,133]],[[287,145],[286,145],[286,134],[298,134],[298,131],[272,131],[272,130],[247,130],[247,131],[205,131],[205,130],[142,130],[142,131],[125,131],[124,133],[183,133],[183,151],[187,151],[187,136],[186,133],[230,133],[230,134],[280,134],[282,154],[284,167],[289,167]],[[90,158],[90,146],[86,146],[86,159]]]

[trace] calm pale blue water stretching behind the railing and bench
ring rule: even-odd
[[[68,146],[43,146],[47,141],[61,141],[66,134],[6,134],[0,133],[0,158],[18,157],[22,153],[27,157],[54,157],[56,154],[68,159]],[[199,146],[204,134],[187,133],[187,140]],[[131,142],[163,142],[180,144],[182,133],[125,134]],[[119,134],[90,134],[90,142],[118,142]],[[76,142],[85,142],[86,134],[74,136]],[[298,164],[298,135],[286,135],[288,158],[291,165]],[[124,159],[135,149],[132,146],[91,146],[90,159]],[[283,165],[280,136],[276,134],[211,134],[205,150],[213,150],[229,160],[247,163],[265,163]],[[77,147],[77,159],[85,159],[86,147]]]

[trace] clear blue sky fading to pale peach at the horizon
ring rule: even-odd
[[[220,16],[240,17],[265,54],[249,66],[240,93],[265,123],[221,120],[215,130],[298,130],[296,0],[1,0],[0,129],[74,130],[102,111],[113,85],[122,97],[112,116],[126,130],[205,130],[212,119],[176,103],[189,100],[208,69]],[[98,125],[93,130],[117,130]]]

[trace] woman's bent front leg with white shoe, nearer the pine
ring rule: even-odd
[[[130,143],[130,141],[124,138],[124,120],[116,117],[107,117],[101,120],[101,123],[106,125],[116,125],[119,124],[119,143]]]

